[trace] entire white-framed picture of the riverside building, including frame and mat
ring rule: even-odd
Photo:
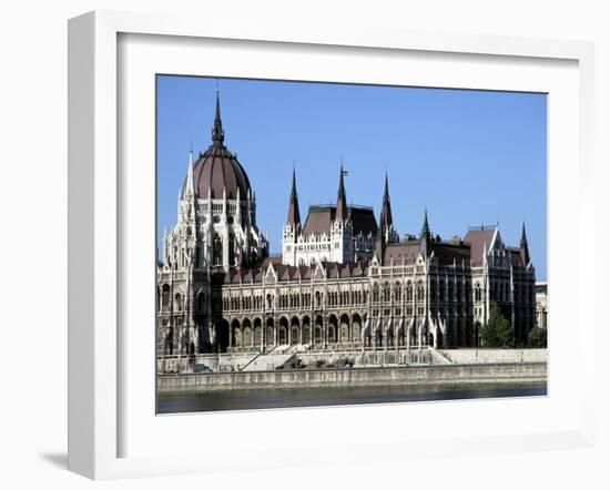
[[[557,245],[566,222],[576,262],[591,239],[588,197],[565,198],[589,175],[591,62],[577,42],[73,19],[70,468],[587,445],[592,359],[570,359],[593,323]]]

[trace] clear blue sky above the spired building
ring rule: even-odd
[[[157,76],[157,243],[177,191],[211,144],[220,86],[225,144],[256,193],[257,221],[281,252],[293,162],[302,218],[334,203],[339,163],[348,203],[378,217],[387,170],[394,224],[418,234],[427,206],[443,238],[500,224],[518,246],[526,221],[538,280],[547,277],[547,98],[543,94]]]

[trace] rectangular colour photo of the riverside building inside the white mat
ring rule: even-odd
[[[546,96],[157,75],[157,412],[546,395]]]

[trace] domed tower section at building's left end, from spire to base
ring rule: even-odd
[[[177,221],[163,239],[157,266],[160,351],[213,349],[213,274],[253,266],[267,255],[268,243],[256,226],[250,180],[224,144],[216,92],[212,144],[196,161],[190,152],[177,196]]]

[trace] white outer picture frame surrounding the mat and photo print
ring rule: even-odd
[[[119,120],[119,104],[122,100],[116,81],[119,71],[122,69],[119,62],[125,61],[120,57],[118,43],[119,38],[125,34],[172,37],[173,42],[176,40],[189,42],[238,40],[246,44],[251,43],[254,49],[255,45],[261,45],[260,43],[288,48],[297,45],[304,50],[307,47],[315,47],[317,55],[324,53],[324,50],[340,48],[347,51],[350,49],[374,51],[375,55],[410,52],[423,58],[438,53],[450,58],[466,54],[478,57],[479,62],[484,64],[498,59],[519,59],[532,67],[542,63],[543,60],[571,63],[577,70],[578,95],[577,100],[568,101],[568,104],[571,104],[572,109],[576,108],[578,123],[566,127],[567,131],[576,129],[577,134],[571,134],[570,141],[578,143],[570,146],[577,160],[572,164],[576,167],[570,169],[576,174],[568,174],[568,176],[578,177],[579,182],[580,206],[572,210],[573,217],[578,221],[576,241],[581,246],[594,239],[592,224],[594,215],[584,212],[593,208],[593,196],[582,192],[590,183],[593,171],[593,49],[590,43],[430,34],[363,29],[363,27],[343,27],[336,30],[312,25],[307,29],[298,29],[294,25],[271,23],[267,25],[243,22],[202,24],[196,19],[109,11],[91,12],[72,19],[69,23],[69,469],[72,471],[89,478],[109,479],[231,471],[235,466],[234,460],[227,459],[230,449],[223,449],[220,433],[212,436],[220,448],[214,455],[193,456],[193,451],[186,448],[182,452],[174,450],[171,455],[163,456],[140,455],[138,451],[130,455],[130,451],[125,453],[122,447],[121,439],[128,430],[124,423],[124,410],[129,411],[129,407],[124,406],[125,386],[133,386],[133,384],[125,384],[122,377],[122,371],[129,365],[129,359],[125,359],[129,358],[130,353],[124,348],[124,336],[120,329],[122,318],[120,295],[124,286],[121,270],[125,267],[125,259],[129,256],[122,249],[125,246],[122,235],[126,218],[121,214],[125,204],[121,200],[132,191],[129,177],[121,181],[122,170],[119,166],[121,149],[118,145],[118,133],[122,130],[122,122]],[[462,83],[458,84],[460,88],[469,88],[468,76],[471,78],[471,74],[465,72]],[[470,84],[476,85],[471,79]],[[550,121],[552,122],[552,118]],[[552,136],[558,130],[549,125]],[[557,140],[556,137],[555,141]],[[555,146],[551,145],[551,152]],[[549,156],[549,159],[559,157],[561,155],[552,153]],[[552,172],[549,178],[552,180]],[[557,191],[551,185],[550,194],[553,193],[557,196]],[[551,206],[551,222],[552,216]],[[555,220],[560,220],[557,213],[555,216]],[[552,237],[552,223],[550,226],[550,237]],[[552,257],[552,242],[549,242]],[[577,255],[577,261],[583,261],[580,257]],[[579,267],[576,268],[579,269]],[[550,274],[557,270],[552,267],[549,269]],[[577,319],[579,324],[579,329],[572,334],[571,338],[573,349],[578,353],[578,349],[583,348],[587,339],[594,335],[593,310],[577,308],[577,305],[582,305],[584,302],[584,285],[594,283],[592,279],[594,273],[590,268],[581,267],[580,270],[571,274],[573,275],[568,280],[577,282],[579,295],[576,304],[563,305],[563,307],[572,308],[568,312],[572,315],[570,318]],[[559,274],[552,276],[552,280],[556,279],[560,279]],[[562,307],[561,288],[552,289],[553,287],[551,286],[551,312],[556,307],[558,310]],[[555,292],[557,292],[557,299],[552,298]],[[556,317],[552,318],[555,321]],[[151,324],[151,335],[154,336],[153,325]],[[561,336],[566,335],[560,330],[561,320],[557,320],[556,325],[558,325],[558,334],[550,340],[550,398],[555,396],[553,374],[563,372],[560,349],[568,345],[567,341],[565,344],[560,341]],[[553,335],[556,334],[551,333],[551,336]],[[558,355],[552,350],[556,347]],[[555,365],[553,359],[558,360]],[[153,363],[152,357],[144,359],[144,363],[148,361]],[[541,431],[530,428],[525,432],[512,429],[511,435],[486,436],[482,427],[469,438],[443,437],[443,435],[433,433],[429,437],[417,438],[417,445],[400,443],[409,440],[400,431],[392,438],[369,435],[368,439],[365,438],[362,442],[346,440],[344,451],[335,456],[334,461],[339,463],[348,460],[357,461],[363,458],[359,456],[359,450],[372,443],[375,445],[377,455],[374,458],[395,460],[450,455],[456,448],[459,448],[461,453],[489,453],[520,451],[523,445],[530,450],[591,447],[594,409],[594,400],[591,396],[594,379],[593,365],[592,356],[583,356],[575,368],[581,376],[581,389],[575,394],[578,396],[577,404],[570,407],[569,422],[567,420],[565,425],[558,422],[552,430],[549,427]],[[558,386],[556,390],[558,394],[556,399],[561,400],[559,388]],[[479,409],[481,407],[482,405],[478,406]],[[472,410],[472,406],[467,402],[454,402],[451,409],[465,411],[466,408]],[[504,408],[510,407],[506,405]],[[545,407],[540,405],[538,408],[542,410]],[[396,420],[397,409],[400,409],[400,405],[383,408],[384,419]],[[326,410],[325,414],[328,417],[339,417],[342,408],[285,410],[283,416],[289,419],[294,418],[295,414],[306,412],[307,417],[312,418],[319,415],[321,410]],[[357,411],[352,410],[350,414],[369,417],[375,410],[382,410],[382,408],[360,407]],[[242,427],[261,417],[265,417],[265,414],[224,414],[218,415],[215,420],[223,422],[232,420]],[[175,417],[173,422],[184,423],[186,418],[182,417],[180,421]],[[126,417],[126,420],[133,420],[133,417],[131,419]],[[200,417],[196,420],[199,421],[195,423],[202,423],[204,419]],[[145,427],[142,426],[142,428]],[[238,438],[237,435],[235,437]],[[324,440],[325,436],[318,437]],[[264,455],[265,448],[261,448],[261,451]],[[370,455],[367,458],[370,459]],[[245,459],[241,462],[242,468],[255,469],[262,466],[260,461],[250,462],[250,466]],[[325,462],[327,459],[323,455],[295,451],[293,455],[282,455],[268,463],[263,463],[263,467],[285,468]]]

